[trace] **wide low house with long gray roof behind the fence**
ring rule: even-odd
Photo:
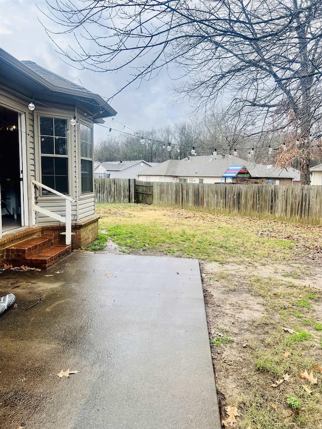
[[[233,167],[228,171],[229,167]],[[291,185],[299,171],[258,164],[237,156],[188,156],[169,159],[141,171],[139,180],[183,183],[249,183]]]

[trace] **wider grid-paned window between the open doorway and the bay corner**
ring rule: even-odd
[[[40,118],[41,181],[68,194],[67,120]],[[51,194],[43,189],[43,195]]]

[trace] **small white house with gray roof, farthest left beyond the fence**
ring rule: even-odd
[[[95,179],[137,179],[140,171],[155,163],[139,159],[138,161],[95,162]]]

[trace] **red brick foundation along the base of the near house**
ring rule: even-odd
[[[71,237],[72,249],[86,246],[97,238],[99,218],[99,216],[95,215],[90,219],[77,222],[71,226],[71,231],[74,233]],[[0,264],[6,262],[6,247],[19,243],[27,238],[40,237],[42,235],[53,237],[55,244],[65,244],[65,235],[61,235],[62,232],[65,232],[65,225],[47,225],[24,228],[21,231],[4,235],[0,238]]]

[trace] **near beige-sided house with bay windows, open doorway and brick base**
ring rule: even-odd
[[[101,96],[0,49],[0,263],[26,237],[73,247],[96,238],[93,125],[115,114]]]

